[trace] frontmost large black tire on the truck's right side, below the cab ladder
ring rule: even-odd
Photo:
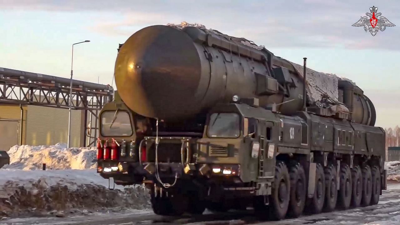
[[[289,207],[290,200],[290,176],[286,164],[282,161],[276,162],[275,179],[272,184],[270,195],[269,215],[273,220],[284,219]]]

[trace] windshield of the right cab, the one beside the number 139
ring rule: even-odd
[[[240,136],[240,118],[236,113],[213,113],[208,125],[208,137],[236,138]]]

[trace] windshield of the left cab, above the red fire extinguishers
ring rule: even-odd
[[[132,136],[132,125],[128,112],[104,111],[101,114],[102,136]]]

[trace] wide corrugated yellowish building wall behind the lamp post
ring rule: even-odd
[[[68,142],[68,109],[28,105],[27,111],[27,145]],[[71,147],[80,147],[81,113],[81,110],[72,110]]]

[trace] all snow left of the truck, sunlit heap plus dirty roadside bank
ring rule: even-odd
[[[115,185],[96,173],[95,148],[14,146],[0,169],[0,216],[43,215],[71,209],[149,208],[143,186]],[[42,170],[46,163],[46,171]],[[111,187],[114,184],[111,183]]]

